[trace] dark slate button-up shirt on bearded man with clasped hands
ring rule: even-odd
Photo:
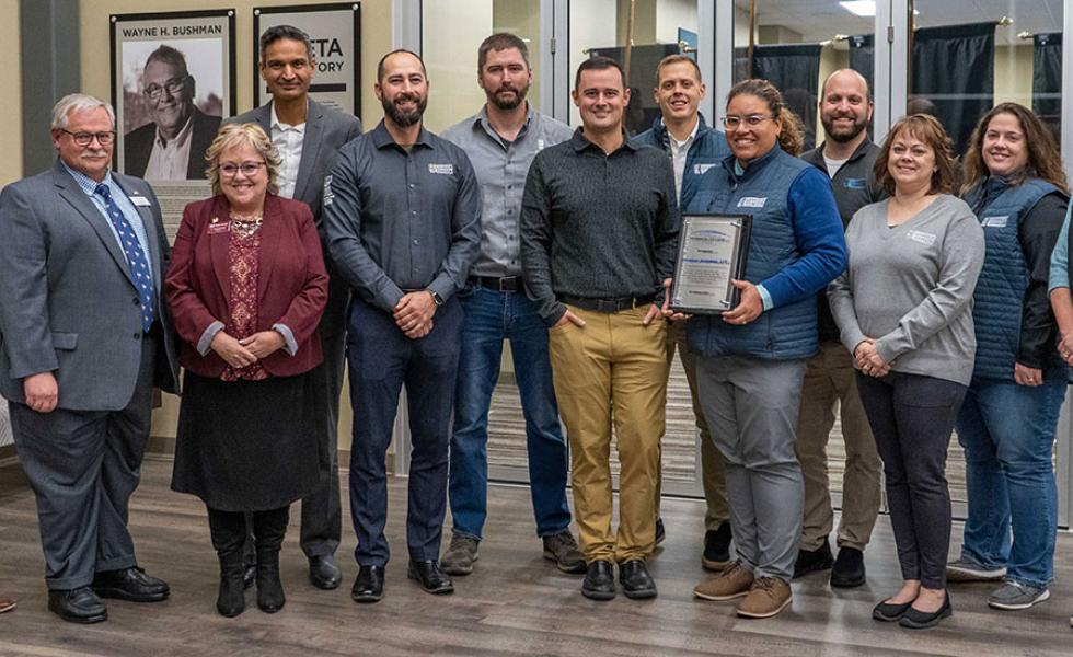
[[[369,303],[392,312],[403,290],[448,299],[481,246],[481,189],[465,151],[424,127],[407,152],[383,122],[339,150],[324,178],[328,251]]]

